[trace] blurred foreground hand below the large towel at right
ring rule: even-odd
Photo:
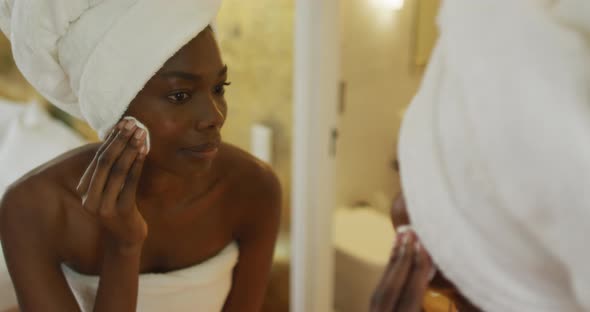
[[[433,272],[433,264],[416,234],[398,231],[385,273],[373,293],[371,312],[418,312]]]

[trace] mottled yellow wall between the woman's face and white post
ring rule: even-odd
[[[274,134],[273,168],[283,186],[283,228],[291,185],[293,0],[225,0],[217,31],[229,67],[224,140],[249,150],[256,122]]]

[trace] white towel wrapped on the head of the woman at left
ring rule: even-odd
[[[211,24],[221,0],[0,0],[17,66],[101,137],[145,83]]]

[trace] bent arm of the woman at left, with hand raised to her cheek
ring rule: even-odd
[[[143,137],[132,137],[135,129],[120,125],[113,131],[78,186],[83,209],[102,230],[94,311],[136,309],[147,225],[135,204],[145,159],[140,153]],[[60,191],[51,186],[51,182],[21,182],[7,192],[0,206],[0,236],[23,312],[80,310],[61,270],[67,218],[60,206]]]

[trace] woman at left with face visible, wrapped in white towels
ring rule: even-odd
[[[35,169],[2,201],[21,311],[260,309],[280,186],[221,141],[228,68],[208,26],[218,9],[213,0],[2,6],[23,74],[104,138]]]

